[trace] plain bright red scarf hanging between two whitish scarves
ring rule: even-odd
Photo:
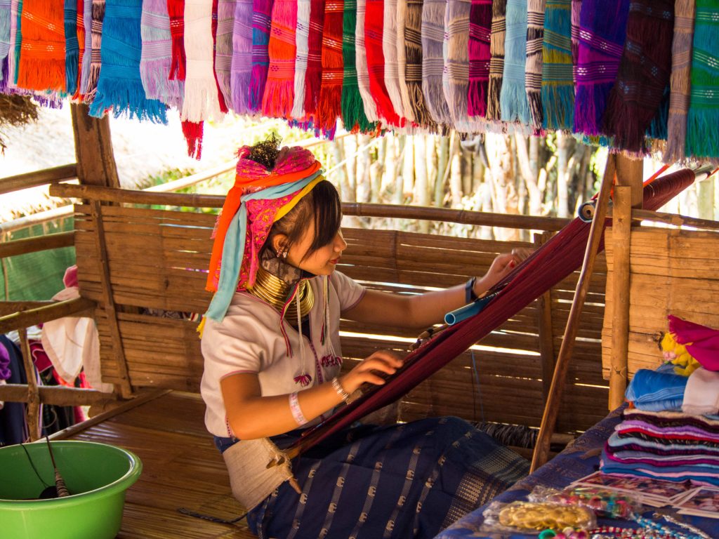
[[[385,57],[383,53],[384,1],[367,0],[365,14],[365,50],[367,71],[370,73],[370,93],[377,105],[377,114],[387,124],[399,125],[399,116],[392,106],[385,86]]]

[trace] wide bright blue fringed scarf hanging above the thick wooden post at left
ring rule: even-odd
[[[165,105],[148,99],[139,62],[142,49],[140,19],[142,7],[135,0],[114,0],[106,5],[102,27],[102,69],[90,115],[101,118],[106,111],[115,116],[167,123]]]

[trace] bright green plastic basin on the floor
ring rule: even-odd
[[[40,496],[45,484],[21,446],[0,448],[0,536],[4,539],[111,539],[122,521],[125,491],[142,462],[130,451],[104,443],[55,441],[55,463],[72,494]],[[45,441],[25,444],[46,484],[55,472]]]

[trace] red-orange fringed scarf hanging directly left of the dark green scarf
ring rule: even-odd
[[[337,117],[342,114],[342,0],[329,0],[322,29],[322,86],[315,111],[315,129],[334,137]]]

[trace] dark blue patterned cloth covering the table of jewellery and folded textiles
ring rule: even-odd
[[[621,420],[621,410],[615,410],[610,413],[606,418],[601,420],[599,423],[594,425],[592,428],[587,430],[580,438],[569,444],[562,453],[559,453],[554,459],[549,461],[544,466],[541,466],[533,474],[527,476],[522,481],[515,484],[509,490],[506,490],[498,497],[492,500],[492,502],[515,502],[517,500],[526,500],[527,495],[537,485],[543,487],[554,487],[562,489],[567,487],[568,484],[580,479],[584,476],[592,474],[599,469],[599,456],[604,446],[605,441],[609,438],[611,433],[614,432],[614,428]],[[487,535],[486,533],[480,532],[482,528],[482,512],[486,509],[480,507],[479,509],[472,511],[468,515],[465,515],[461,519],[450,525],[443,532],[439,533],[435,539],[459,539],[459,538],[485,538],[494,539],[497,535]],[[645,513],[646,517],[651,517],[654,511]],[[719,520],[702,517],[692,517],[689,515],[681,515],[682,520],[695,525],[697,528],[704,530],[712,538],[719,539]],[[664,520],[662,524],[666,524]],[[600,525],[613,525],[619,526],[620,528],[636,528],[636,524],[633,522],[627,522],[623,520],[605,520],[600,519]],[[674,526],[669,525],[669,528]],[[680,528],[677,528],[681,530]],[[684,530],[686,531],[686,530]],[[526,535],[516,533],[512,535],[504,535],[508,539],[524,539],[533,538],[536,539],[536,535]]]

